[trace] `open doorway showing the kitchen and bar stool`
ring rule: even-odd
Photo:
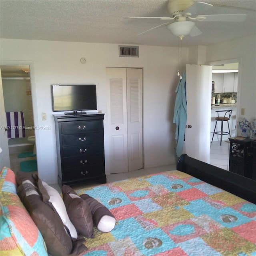
[[[210,138],[212,140],[213,130],[216,122],[216,110],[226,109],[232,109],[232,116],[229,120],[229,126],[231,137],[234,137],[238,133],[238,127],[236,124],[238,121],[237,111],[239,109],[240,59],[211,62],[210,65],[212,65],[213,80],[216,80],[218,83],[215,85],[215,93],[212,93],[212,97],[217,97],[217,95],[221,97],[219,104],[220,106],[217,106],[217,109],[212,106],[211,109]],[[228,130],[228,127],[226,126],[223,127],[224,130]],[[216,127],[216,130],[220,130],[220,127]],[[224,170],[229,169],[229,137],[229,135],[224,135],[222,139],[222,146],[220,146],[220,135],[214,134],[214,139],[210,146],[210,164]]]

